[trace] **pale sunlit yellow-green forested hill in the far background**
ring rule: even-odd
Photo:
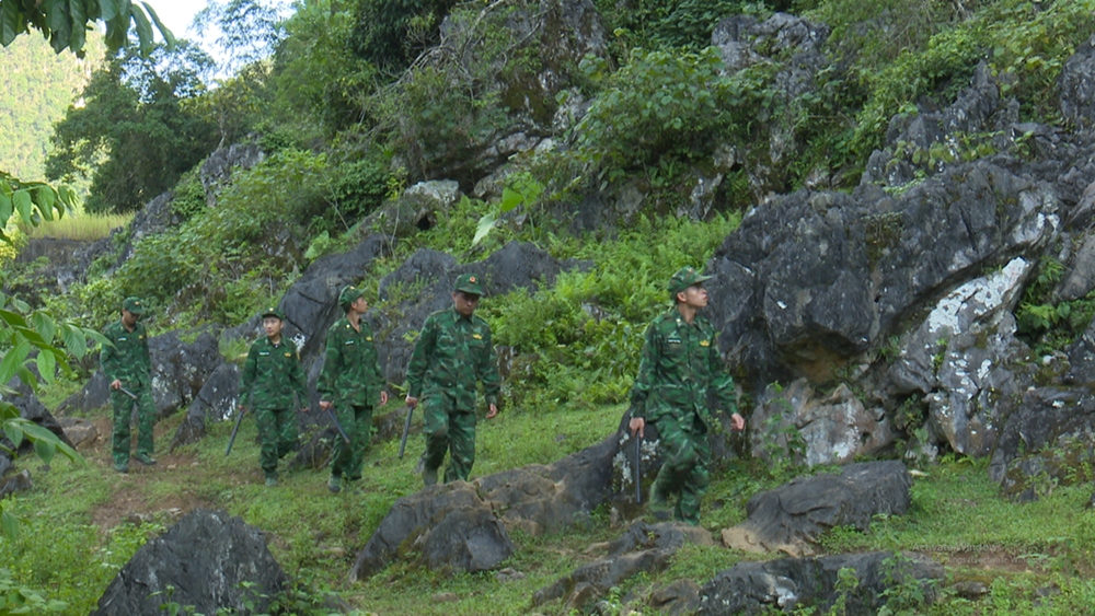
[[[54,123],[83,91],[103,59],[102,36],[89,37],[88,56],[55,54],[41,36],[21,36],[0,47],[0,168],[23,179],[43,179]]]

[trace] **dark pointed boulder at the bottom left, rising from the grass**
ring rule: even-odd
[[[168,601],[181,612],[263,613],[287,583],[261,530],[198,509],[141,546],[92,615],[160,614]]]

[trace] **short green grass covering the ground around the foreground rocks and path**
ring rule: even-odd
[[[621,412],[620,407],[606,407],[562,408],[548,417],[504,415],[480,431],[475,474],[557,460],[600,441],[615,428]],[[108,434],[105,415],[92,419]],[[161,451],[181,419],[182,414],[158,426]],[[181,512],[211,507],[268,533],[278,561],[311,589],[297,601],[333,592],[376,614],[526,614],[535,611],[529,604],[533,592],[596,558],[597,551],[587,548],[621,531],[607,511],[598,511],[592,524],[574,532],[518,535],[518,553],[506,563],[526,574],[516,581],[497,581],[493,573],[447,576],[396,563],[351,584],[346,573],[357,551],[392,502],[418,489],[414,455],[400,461],[397,442],[377,443],[368,454],[361,489],[338,496],[326,491],[325,472],[287,474],[280,487],[267,489],[258,469],[254,423],[244,422],[226,458],[230,428],[214,425],[201,443],[161,454],[158,466],[136,467],[128,476],[110,469],[102,437],[84,451],[88,464],[82,468],[56,462],[44,472],[41,462],[24,458],[19,466],[31,469],[36,487],[15,501],[23,519],[21,536],[15,544],[0,542],[0,561],[27,586],[69,602],[66,613],[87,614],[146,538],[162,532]],[[704,524],[717,533],[740,521],[746,500],[771,485],[762,473],[759,465],[741,462],[718,473]],[[932,609],[936,614],[1079,614],[1095,601],[1095,584],[1083,581],[1095,565],[1095,513],[1082,509],[1088,496],[1090,486],[1058,488],[1038,502],[1013,504],[999,496],[983,464],[948,461],[917,478],[908,515],[876,520],[866,535],[837,530],[823,538],[822,547],[832,553],[920,549],[948,567],[948,583],[980,581],[991,589],[978,602],[949,596]],[[135,524],[135,514],[142,514],[145,522]],[[756,558],[763,557],[691,547],[662,574],[629,580],[619,596],[642,596],[682,577],[703,583],[721,569]],[[554,603],[539,611],[563,608]]]

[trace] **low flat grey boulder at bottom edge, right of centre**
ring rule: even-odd
[[[841,570],[854,572],[858,582],[855,590],[838,590]],[[919,586],[917,594],[922,597],[900,607],[932,604],[944,574],[943,566],[930,558],[888,551],[739,562],[700,590],[699,614],[740,616],[811,607],[825,614],[843,594],[841,614],[871,616],[887,604],[898,584]]]

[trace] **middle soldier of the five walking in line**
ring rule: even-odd
[[[320,407],[334,412],[350,441],[346,443],[339,437],[335,443],[331,479],[327,480],[327,489],[332,492],[342,490],[343,477],[349,481],[361,478],[365,450],[372,435],[372,406],[378,397],[381,405],[388,404],[372,328],[361,321],[361,315],[369,310],[364,294],[365,290],[357,287],[346,287],[338,293],[338,305],[346,311],[346,316],[327,330],[327,350],[316,386]]]

